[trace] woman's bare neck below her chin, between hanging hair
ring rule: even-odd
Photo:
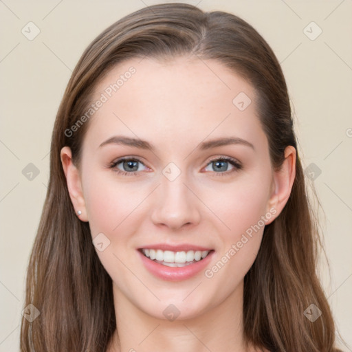
[[[184,320],[170,321],[146,314],[115,285],[113,296],[117,329],[107,352],[246,351],[243,340],[243,282],[220,305]]]

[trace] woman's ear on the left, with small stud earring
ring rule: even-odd
[[[72,162],[71,148],[64,146],[61,149],[61,162],[63,164],[63,170],[65,172],[67,189],[69,191],[69,197],[71,198],[74,206],[76,215],[82,221],[88,221],[87,211],[85,208],[85,199],[83,197],[83,188],[80,180],[80,173],[78,168]],[[81,214],[78,215],[78,210]]]

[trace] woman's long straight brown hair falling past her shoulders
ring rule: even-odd
[[[233,14],[203,12],[184,3],[149,6],[113,23],[81,56],[56,115],[50,181],[24,305],[34,305],[40,315],[22,319],[22,352],[106,351],[116,328],[112,281],[92,244],[89,223],[76,217],[60,157],[61,148],[69,146],[79,166],[89,121],[72,135],[65,131],[87,111],[98,81],[118,63],[180,55],[215,59],[250,81],[259,96],[257,109],[274,168],[280,168],[286,146],[297,151],[283,72],[251,25]],[[331,310],[316,273],[320,244],[297,157],[292,193],[281,214],[265,226],[259,254],[245,275],[246,342],[270,351],[338,351]],[[310,305],[321,311],[314,322],[304,314]]]

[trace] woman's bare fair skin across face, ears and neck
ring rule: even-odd
[[[80,170],[70,149],[61,151],[74,208],[89,221],[92,239],[103,233],[110,241],[97,251],[113,280],[119,337],[115,333],[107,351],[246,351],[243,278],[256,259],[264,225],[287,202],[295,149],[288,146],[281,170],[273,170],[253,87],[217,61],[126,61],[98,84],[96,98],[131,66],[135,74],[89,121]],[[240,92],[252,100],[243,111],[232,102]],[[100,147],[114,135],[146,140],[154,150]],[[248,143],[198,148],[220,137]],[[133,175],[124,162],[108,167],[121,157],[137,159]],[[223,157],[236,164],[221,164]],[[162,173],[170,162],[180,172],[173,181]],[[232,245],[256,224],[260,230],[231,255]],[[155,243],[211,248],[208,272],[177,282],[156,277],[137,252]],[[179,311],[173,321],[163,314],[170,305]],[[254,351],[259,349],[248,349]]]

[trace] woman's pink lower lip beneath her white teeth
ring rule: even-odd
[[[167,267],[166,265],[162,265],[148,259],[139,250],[137,250],[137,252],[140,255],[146,269],[154,276],[157,276],[157,278],[161,278],[166,281],[182,281],[197,275],[209,264],[212,254],[214,253],[212,250],[206,258],[201,261],[197,261],[196,263],[185,265],[184,267]]]

